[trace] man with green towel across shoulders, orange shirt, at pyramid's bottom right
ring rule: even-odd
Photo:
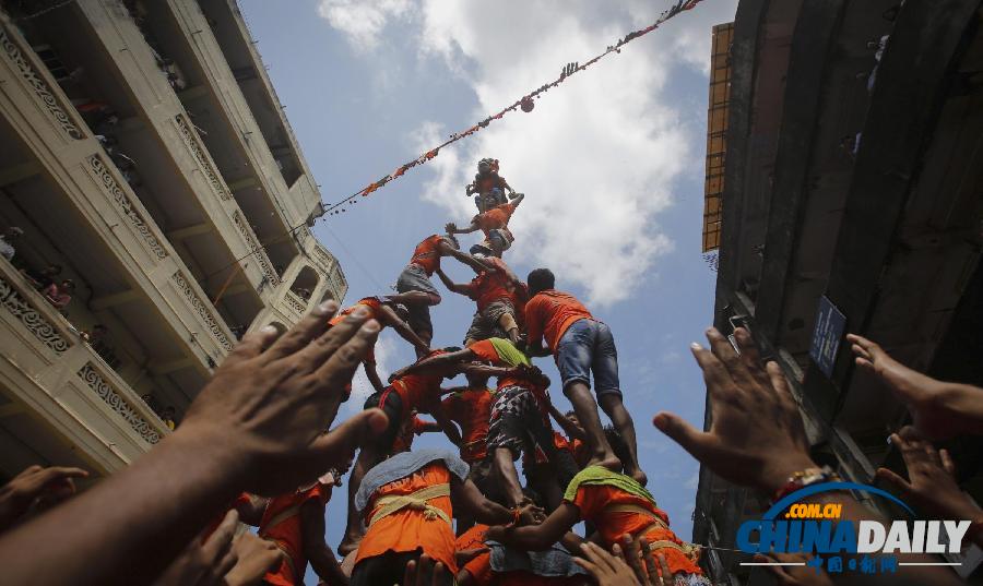
[[[629,457],[628,446],[614,428],[605,430],[607,443],[621,459]],[[597,528],[600,542],[606,550],[619,542],[625,534],[632,539],[644,537],[655,553],[661,553],[672,573],[683,574],[679,583],[694,586],[710,582],[697,564],[699,547],[682,541],[670,529],[668,515],[655,504],[655,499],[629,476],[603,466],[589,466],[570,481],[562,504],[535,527],[492,527],[488,540],[531,551],[543,551],[568,535],[581,521]],[[677,578],[678,579],[678,578]]]

